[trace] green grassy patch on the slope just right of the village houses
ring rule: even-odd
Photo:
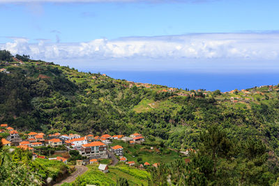
[[[124,156],[127,157],[128,161],[135,161],[137,163],[149,162],[149,164],[153,164],[165,162],[167,164],[181,158],[179,153],[167,148],[161,148],[163,150],[159,150],[156,146],[154,146],[153,150],[151,150],[151,146],[140,144],[130,145],[121,140],[114,140],[111,146],[115,145],[123,146]]]

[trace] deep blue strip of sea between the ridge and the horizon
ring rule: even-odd
[[[89,71],[89,70],[83,70]],[[93,71],[91,71],[93,72]],[[189,73],[189,72],[135,72],[135,71],[105,71],[114,79],[126,79],[133,82],[161,84],[175,88],[199,89],[207,91],[231,91],[235,88],[245,89],[261,85],[279,84],[279,73],[271,74],[210,74],[210,73]]]

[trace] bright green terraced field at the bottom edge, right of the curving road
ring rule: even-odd
[[[109,172],[103,173],[98,170],[98,165],[88,165],[89,170],[77,178],[72,184],[66,185],[115,185],[119,178],[126,178],[130,185],[148,185],[150,173],[135,169],[130,166],[109,166]]]

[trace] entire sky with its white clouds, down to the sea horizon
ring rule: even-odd
[[[0,0],[0,49],[91,71],[274,74],[278,7],[276,0]]]

